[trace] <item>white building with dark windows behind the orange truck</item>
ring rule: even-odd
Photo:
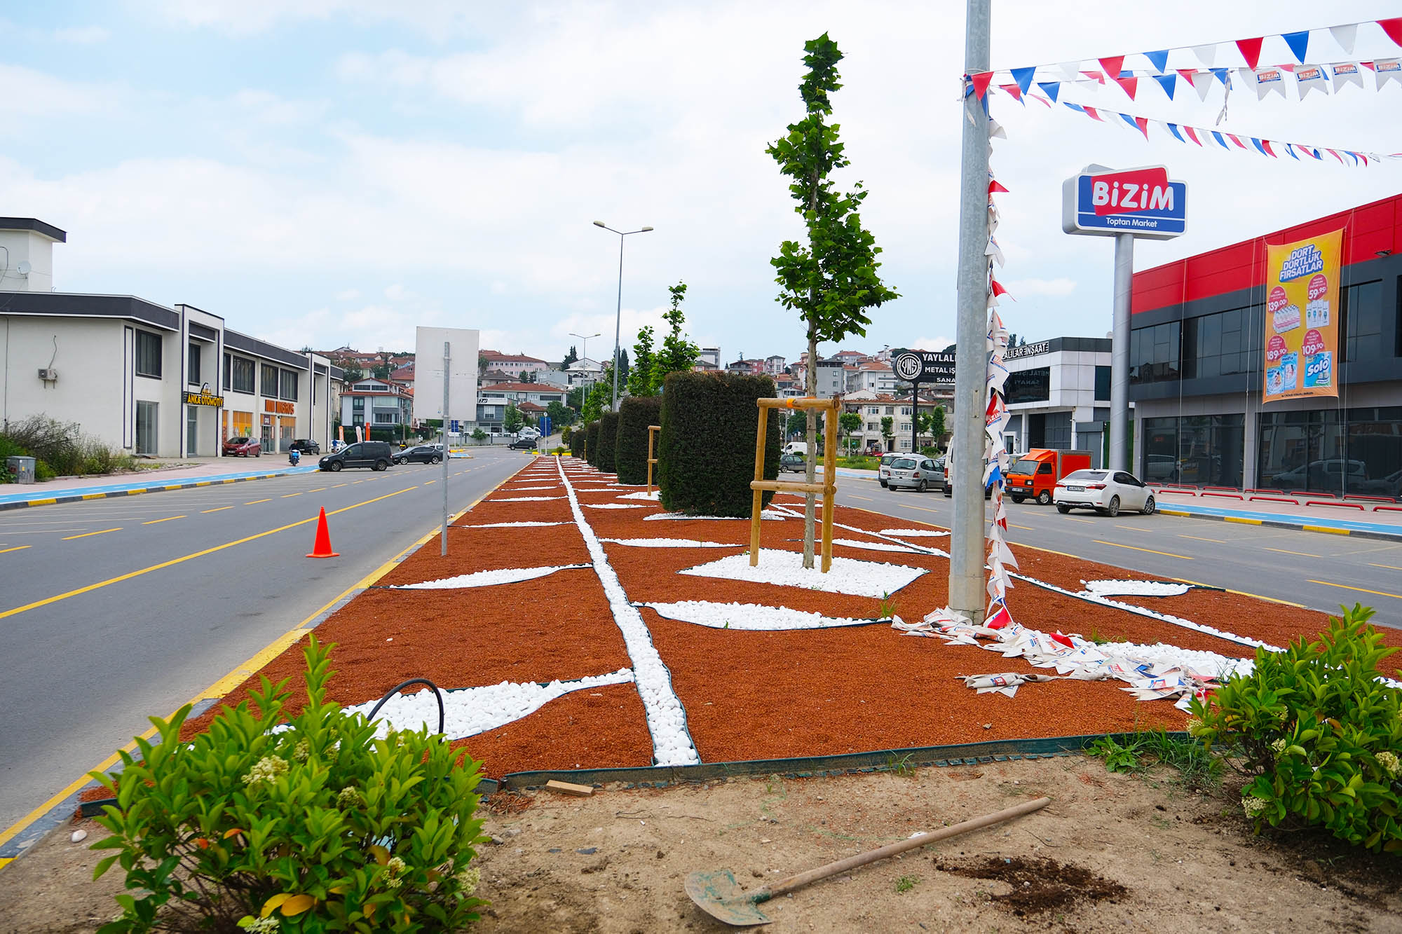
[[[1012,449],[1089,450],[1099,466],[1110,419],[1110,339],[1052,338],[1008,348],[1004,360]]]

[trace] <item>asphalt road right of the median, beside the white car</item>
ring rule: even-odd
[[[942,492],[892,492],[875,480],[840,477],[837,502],[946,529],[953,517]],[[1359,602],[1377,609],[1375,623],[1402,627],[1396,541],[1165,515],[1063,516],[1011,499],[1008,541],[1332,613]]]

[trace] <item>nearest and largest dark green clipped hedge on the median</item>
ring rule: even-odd
[[[758,398],[774,398],[768,376],[690,373],[667,376],[658,439],[658,485],[669,512],[750,515]],[[780,471],[781,414],[770,412],[764,477]],[[774,496],[764,494],[764,502]]]

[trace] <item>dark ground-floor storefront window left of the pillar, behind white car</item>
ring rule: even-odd
[[[1141,478],[1241,488],[1245,428],[1244,415],[1145,418]]]

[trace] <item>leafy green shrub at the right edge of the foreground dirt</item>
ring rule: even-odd
[[[1242,809],[1258,830],[1315,825],[1373,851],[1402,851],[1402,691],[1378,680],[1378,663],[1396,649],[1367,625],[1371,616],[1354,604],[1315,642],[1256,649],[1251,675],[1193,700],[1189,732],[1252,776]]]

